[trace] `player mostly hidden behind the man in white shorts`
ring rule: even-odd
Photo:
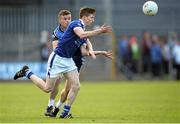
[[[59,26],[56,27],[56,29],[54,30],[54,32],[52,34],[53,49],[55,49],[57,47],[58,39],[60,39],[62,37],[65,29],[71,22],[71,12],[68,10],[59,11],[58,22],[59,22]],[[89,42],[90,47],[92,47],[90,41],[88,41],[88,42]],[[83,55],[82,55],[82,53],[83,53]],[[77,66],[78,72],[80,72],[81,66],[83,65],[83,61],[84,61],[83,56],[87,56],[86,53],[87,53],[87,49],[85,49],[84,47],[81,47],[81,49],[79,48],[73,56],[73,61],[75,62],[75,65]],[[104,55],[105,57],[112,58],[111,51],[94,51],[94,53],[95,53],[95,55]],[[58,94],[58,86],[59,86],[60,82],[61,82],[61,77],[59,77],[56,80],[55,86],[50,93],[50,98],[48,101],[48,106],[45,111],[45,116],[55,117],[57,115],[62,103],[64,103],[66,100],[67,94],[69,92],[69,87],[68,87],[67,83],[65,83],[65,87],[61,91],[61,97],[60,97],[59,101],[57,102],[56,107],[54,108],[54,111],[53,111],[54,100]]]

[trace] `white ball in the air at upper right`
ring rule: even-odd
[[[158,12],[158,5],[154,1],[147,1],[144,3],[142,10],[147,16],[155,16]]]

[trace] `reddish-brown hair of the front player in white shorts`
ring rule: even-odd
[[[80,9],[79,17],[82,18],[83,16],[89,16],[89,14],[95,14],[96,10],[89,7],[83,7]]]

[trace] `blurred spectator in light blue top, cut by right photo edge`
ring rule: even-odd
[[[180,41],[177,42],[172,50],[174,59],[174,68],[176,69],[176,79],[180,80]]]

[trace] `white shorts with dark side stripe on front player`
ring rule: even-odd
[[[61,74],[77,69],[72,58],[60,57],[52,52],[48,59],[47,74],[49,78],[59,77]]]

